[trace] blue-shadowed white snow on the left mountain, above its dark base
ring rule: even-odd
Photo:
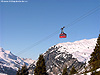
[[[22,66],[26,63],[29,66],[31,63],[34,62],[32,59],[23,59],[13,55],[10,51],[4,50],[0,47],[0,65],[13,68],[17,70],[17,67]],[[17,65],[17,66],[16,66]]]

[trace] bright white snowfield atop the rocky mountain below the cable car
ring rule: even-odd
[[[58,49],[60,52],[69,52],[73,55],[73,58],[77,58],[80,62],[88,63],[90,59],[90,54],[93,52],[95,48],[97,38],[93,39],[84,39],[75,42],[66,42],[66,43],[59,43],[56,47],[61,47]],[[56,58],[59,57],[56,56]]]

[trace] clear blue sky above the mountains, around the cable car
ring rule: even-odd
[[[27,1],[0,3],[0,46],[17,56],[36,60],[39,54],[55,44],[97,38],[99,35],[99,0]],[[97,6],[98,10],[73,24]],[[66,39],[59,38],[63,26],[68,35]],[[56,31],[52,37],[44,39]]]

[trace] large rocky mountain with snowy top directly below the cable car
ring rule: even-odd
[[[63,68],[67,65],[68,72],[74,66],[82,70],[84,63],[88,63],[90,54],[95,48],[97,39],[80,40],[75,42],[59,43],[50,47],[44,58],[49,75],[61,75]]]

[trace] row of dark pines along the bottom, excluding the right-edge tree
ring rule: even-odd
[[[70,75],[75,74],[75,73],[77,73],[77,71],[75,70],[75,68],[73,66],[70,71]],[[25,64],[22,66],[22,69],[18,68],[18,71],[16,73],[16,75],[28,75],[28,74],[29,74],[28,68]],[[34,69],[34,75],[48,75],[48,73],[46,71],[45,59],[44,59],[43,55],[40,55],[38,58],[36,67]],[[63,69],[62,75],[68,75],[67,65]]]

